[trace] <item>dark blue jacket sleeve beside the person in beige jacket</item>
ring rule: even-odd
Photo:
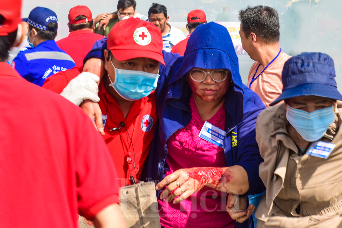
[[[265,186],[259,177],[259,165],[263,161],[257,141],[255,140],[255,126],[257,117],[265,108],[255,92],[246,89],[244,96],[244,118],[238,125],[237,161],[235,165],[242,166],[248,175],[249,190],[244,196],[261,193]]]

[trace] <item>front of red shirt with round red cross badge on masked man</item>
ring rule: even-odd
[[[107,122],[103,127],[106,134],[103,137],[118,169],[121,186],[125,186],[130,183],[130,176],[133,176],[135,180],[139,179],[139,171],[141,173],[151,148],[155,124],[158,119],[156,97],[153,93],[134,101],[125,119],[116,100],[108,92],[105,92],[103,82],[102,80],[98,88],[98,96],[100,97],[98,104],[102,111],[102,119],[105,119],[104,115],[107,115]],[[109,130],[121,127],[121,121],[126,125],[128,133],[124,127],[116,131]],[[132,143],[129,137],[131,137]]]

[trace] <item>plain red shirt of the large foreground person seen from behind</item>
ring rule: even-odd
[[[116,168],[89,117],[0,63],[3,227],[75,227],[118,203]]]

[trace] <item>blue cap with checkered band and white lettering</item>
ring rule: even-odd
[[[57,30],[57,27],[54,30],[50,30],[47,27],[48,24],[51,22],[58,23],[56,13],[48,8],[39,7],[39,6],[36,7],[30,12],[30,15],[28,15],[28,18],[23,18],[23,21],[41,30],[45,30],[45,31]]]

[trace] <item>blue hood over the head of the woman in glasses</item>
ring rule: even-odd
[[[234,84],[241,88],[239,60],[231,36],[222,25],[210,22],[197,26],[191,33],[177,76],[185,75],[194,67],[228,69],[232,72]]]

